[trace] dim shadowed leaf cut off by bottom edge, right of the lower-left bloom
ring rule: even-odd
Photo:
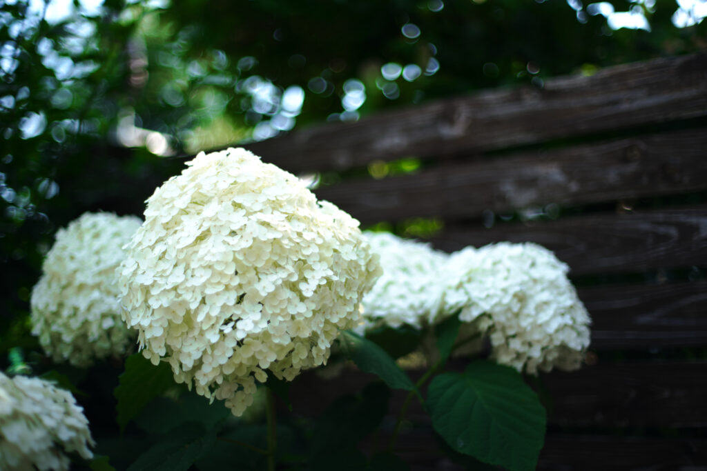
[[[142,453],[128,471],[187,471],[214,442],[214,431],[194,422],[182,424]]]

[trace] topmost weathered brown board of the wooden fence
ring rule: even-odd
[[[246,145],[291,172],[480,153],[707,116],[707,54],[605,68],[382,112]]]

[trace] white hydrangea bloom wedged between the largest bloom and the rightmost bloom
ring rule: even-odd
[[[362,328],[380,324],[422,328],[436,321],[448,254],[388,232],[363,232],[363,235],[371,251],[380,256],[383,274],[363,296],[366,323]]]

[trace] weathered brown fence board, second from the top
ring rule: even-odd
[[[707,129],[692,129],[343,181],[316,193],[363,222],[603,203],[707,189],[706,148]]]

